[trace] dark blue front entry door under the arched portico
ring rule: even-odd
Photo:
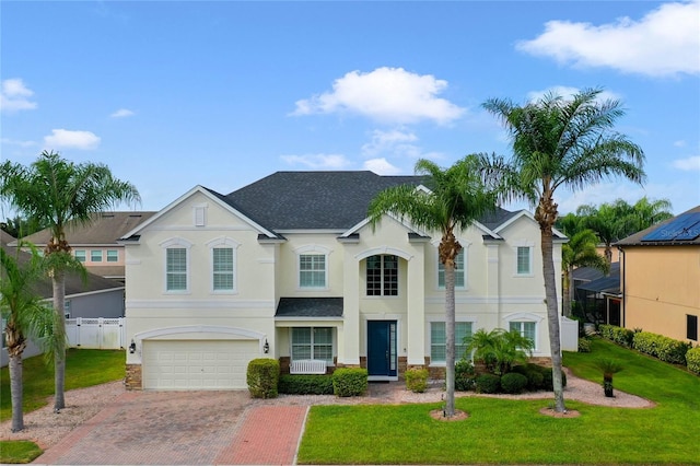
[[[368,375],[371,380],[397,376],[396,321],[368,321]]]

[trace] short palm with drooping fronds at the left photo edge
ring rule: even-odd
[[[31,253],[20,247],[30,247]],[[20,243],[13,257],[4,245],[0,247],[0,310],[5,322],[4,335],[10,361],[10,397],[12,400],[12,432],[24,429],[22,411],[22,353],[27,338],[51,348],[55,313],[35,293],[35,284],[45,275],[42,256],[31,244]],[[22,256],[22,258],[20,258]]]

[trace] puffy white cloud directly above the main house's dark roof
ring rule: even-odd
[[[334,82],[331,92],[298,101],[292,115],[349,112],[388,124],[420,120],[448,124],[465,110],[436,97],[445,89],[447,81],[402,68],[351,71]]]

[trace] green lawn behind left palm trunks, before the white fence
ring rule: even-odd
[[[48,403],[54,396],[54,365],[46,365],[44,357],[27,358],[23,362],[24,412],[31,412]],[[118,381],[126,375],[126,357],[122,350],[69,349],[66,352],[66,391],[84,388]],[[0,421],[12,418],[10,374],[0,370]]]

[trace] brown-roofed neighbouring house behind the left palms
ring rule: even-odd
[[[117,240],[153,214],[155,212],[102,212],[89,225],[71,222],[66,228],[66,241],[90,272],[124,283],[124,246]],[[40,249],[50,238],[49,229],[24,237]]]

